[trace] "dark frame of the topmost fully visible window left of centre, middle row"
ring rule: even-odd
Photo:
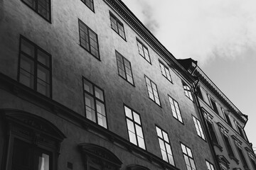
[[[85,26],[85,28],[87,28],[87,36],[88,36],[88,50],[85,48],[85,47],[83,47],[82,46],[82,44],[81,44],[81,33],[80,33],[80,24],[82,24],[83,26]],[[89,26],[87,26],[84,22],[82,22],[81,20],[80,20],[80,18],[78,18],[78,30],[79,30],[79,45],[80,45],[80,47],[82,47],[83,49],[85,49],[87,52],[89,52],[90,53],[90,55],[92,55],[93,57],[95,57],[97,60],[100,60],[100,45],[99,45],[99,39],[98,39],[98,36],[97,36],[97,33],[95,33],[95,31],[93,31]],[[95,34],[95,36],[96,36],[96,39],[97,39],[97,53],[98,53],[98,57],[97,56],[95,56],[94,54],[92,54],[92,50],[91,50],[91,43],[90,43],[90,31],[92,32],[92,33],[94,33]],[[83,38],[82,38],[83,39]],[[95,49],[96,50],[96,49]],[[101,60],[100,60],[101,61]]]

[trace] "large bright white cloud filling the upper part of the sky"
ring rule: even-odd
[[[256,47],[255,0],[123,0],[176,58],[206,64]]]

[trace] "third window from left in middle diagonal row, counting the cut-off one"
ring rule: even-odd
[[[122,78],[126,79],[130,84],[134,85],[131,63],[117,51],[116,51],[116,57],[117,57],[118,74]]]

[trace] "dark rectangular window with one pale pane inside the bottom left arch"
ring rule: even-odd
[[[34,145],[22,140],[14,140],[14,154],[12,169],[52,169],[53,157],[51,152],[34,147]]]

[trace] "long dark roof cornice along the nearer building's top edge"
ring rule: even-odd
[[[191,83],[196,81],[196,79],[194,79],[194,77],[192,77],[191,74],[189,74],[186,69],[184,69],[181,64],[177,62],[174,55],[172,55],[171,52],[169,52],[169,50],[167,50],[166,47],[164,47],[164,45],[162,45],[161,42],[157,40],[157,38],[146,28],[146,26],[144,26],[141,21],[139,21],[139,19],[132,13],[132,11],[129,10],[129,8],[127,8],[127,6],[122,1],[103,1],[105,1],[106,4],[108,4],[112,8],[114,8],[114,10],[116,10],[125,19],[125,21],[127,21],[127,23],[129,23],[129,25],[132,26],[132,28],[134,28],[134,30],[136,30],[137,33],[151,45],[151,47],[154,47],[154,50],[159,52],[161,57],[164,57],[165,60],[169,62],[171,67],[178,69],[179,74],[181,74]]]

